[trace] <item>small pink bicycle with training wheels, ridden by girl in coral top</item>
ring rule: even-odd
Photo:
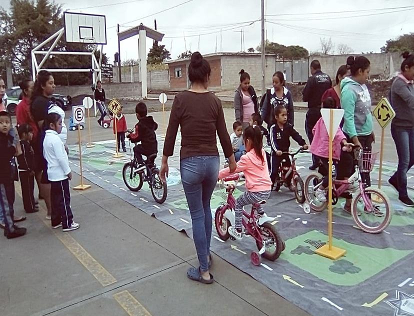
[[[234,240],[228,233],[228,227],[234,225],[235,222],[235,198],[233,192],[239,177],[240,175],[236,173],[223,179],[223,182],[235,181],[235,184],[224,184],[225,190],[228,193],[227,200],[215,210],[214,224],[221,240],[227,240],[228,238]],[[260,265],[261,256],[271,261],[276,260],[285,247],[284,241],[277,233],[276,227],[271,224],[275,217],[269,217],[266,213],[257,213],[258,206],[265,202],[265,200],[262,200],[259,203],[252,204],[250,213],[243,209],[242,223],[245,229],[244,235],[253,237],[258,249],[258,251],[253,251],[250,254],[251,262],[254,265]]]

